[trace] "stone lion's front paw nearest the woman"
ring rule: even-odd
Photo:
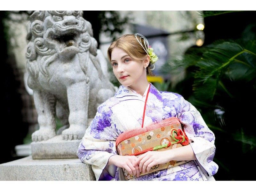
[[[81,126],[72,126],[62,131],[63,140],[77,140],[82,139],[85,134],[85,128]]]

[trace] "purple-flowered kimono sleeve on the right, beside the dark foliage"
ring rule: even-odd
[[[208,176],[214,175],[219,169],[219,166],[213,162],[216,149],[215,136],[205,124],[199,111],[182,96],[180,97],[178,118],[188,136],[199,166],[203,167]]]

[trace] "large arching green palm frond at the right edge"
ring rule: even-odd
[[[199,69],[196,71],[193,85],[195,96],[198,99],[212,100],[217,87],[221,85],[220,78],[223,74],[230,75],[230,80],[252,80],[256,76],[255,62],[253,62],[256,59],[254,55],[256,51],[253,44],[247,46],[249,50],[237,42],[212,44],[196,63]],[[231,96],[227,88],[224,90]]]

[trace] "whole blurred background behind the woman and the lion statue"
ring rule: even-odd
[[[123,34],[148,39],[159,57],[148,81],[159,91],[181,94],[215,134],[216,180],[256,180],[255,18],[256,11],[84,11],[106,59],[110,43]],[[0,11],[0,21],[1,164],[30,155],[31,134],[39,126],[26,85],[28,13]],[[119,87],[110,64],[109,73]]]

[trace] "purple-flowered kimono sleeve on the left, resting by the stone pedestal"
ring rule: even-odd
[[[90,126],[79,144],[77,156],[83,163],[91,164],[96,180],[115,178],[116,166],[107,165],[116,155],[116,122],[111,108],[100,105]]]

